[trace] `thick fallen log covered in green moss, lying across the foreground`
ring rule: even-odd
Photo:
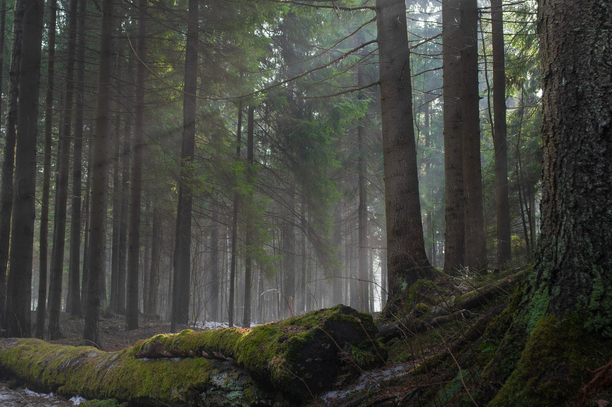
[[[295,405],[384,363],[371,316],[337,305],[253,329],[184,330],[118,352],[9,338],[0,367],[37,390],[135,405]]]

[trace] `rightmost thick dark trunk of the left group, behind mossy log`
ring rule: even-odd
[[[192,191],[188,168],[195,152],[196,91],[198,80],[198,1],[189,0],[187,22],[187,50],[185,52],[185,87],[183,93],[183,132],[181,152],[181,180],[176,215],[176,249],[174,252],[174,284],[172,298],[172,327],[186,324],[189,318],[189,289],[191,276]]]

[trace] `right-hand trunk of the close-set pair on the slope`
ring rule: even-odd
[[[478,90],[478,6],[461,0],[461,133],[463,135],[463,197],[465,200],[465,266],[487,267],[480,168],[480,108]]]

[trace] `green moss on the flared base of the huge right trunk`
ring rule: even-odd
[[[611,356],[612,341],[584,329],[582,318],[540,319],[512,375],[489,404],[561,406],[573,401],[594,369]]]

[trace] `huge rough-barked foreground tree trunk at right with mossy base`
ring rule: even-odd
[[[612,48],[612,9],[595,0],[570,6],[539,2],[542,233],[497,352],[504,360],[491,362],[514,370],[493,405],[581,405],[584,360],[611,356],[609,346],[585,344],[612,337],[612,54],[594,51]]]

